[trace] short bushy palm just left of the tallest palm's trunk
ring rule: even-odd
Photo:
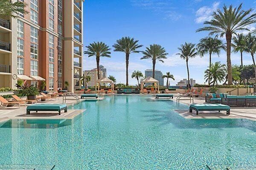
[[[213,86],[218,85],[218,82],[224,81],[226,77],[226,68],[224,64],[221,64],[221,62],[215,62],[212,64],[206,71],[204,71],[204,79],[206,79],[206,82],[210,81],[209,85],[213,83]]]

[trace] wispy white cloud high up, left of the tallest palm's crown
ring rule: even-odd
[[[203,6],[199,8],[196,13],[196,23],[203,23],[204,21],[209,21],[212,19],[212,13],[218,9],[219,2],[215,2],[212,6]]]

